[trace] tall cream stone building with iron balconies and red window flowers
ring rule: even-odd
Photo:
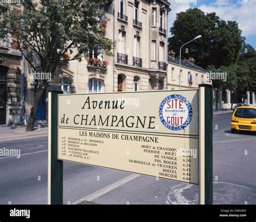
[[[88,60],[71,61],[72,92],[123,92],[167,87],[167,1],[114,0],[100,9],[109,20],[105,37],[116,41],[113,57],[100,48]]]

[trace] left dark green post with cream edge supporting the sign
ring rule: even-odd
[[[48,204],[63,204],[63,161],[58,160],[58,94],[48,94]]]

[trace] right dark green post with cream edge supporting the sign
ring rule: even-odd
[[[212,204],[212,85],[199,85],[199,204]]]

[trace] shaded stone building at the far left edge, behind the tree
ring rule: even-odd
[[[10,5],[13,13],[21,13],[21,5]],[[0,20],[2,12],[0,10]],[[15,36],[0,39],[0,124],[20,122],[22,116],[22,56],[15,50]]]

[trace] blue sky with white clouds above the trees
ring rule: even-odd
[[[223,20],[235,20],[246,43],[256,48],[256,0],[169,0],[169,28],[176,19],[176,13],[189,8],[199,8],[206,13],[215,12]]]

